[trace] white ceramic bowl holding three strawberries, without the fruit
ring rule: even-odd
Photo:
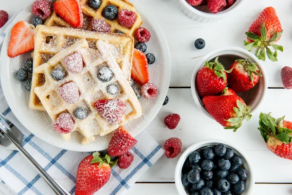
[[[261,61],[258,60],[255,55],[239,47],[224,47],[224,48],[214,50],[210,52],[209,54],[207,54],[206,56],[204,56],[199,62],[199,64],[196,66],[192,79],[191,79],[191,91],[192,91],[193,99],[197,107],[205,115],[213,119],[213,117],[205,109],[203,102],[201,101],[201,98],[199,97],[197,86],[196,86],[196,77],[197,77],[198,71],[205,65],[205,62],[207,60],[215,59],[218,56],[219,56],[218,60],[225,67],[225,70],[227,70],[229,66],[236,59],[249,59],[251,62],[256,63],[258,68],[261,70],[261,74],[263,76],[259,78],[258,83],[252,89],[246,92],[237,93],[237,95],[244,100],[246,105],[253,105],[251,114],[252,115],[255,114],[256,110],[260,107],[260,105],[264,101],[264,98],[267,93],[267,89],[268,89],[267,74],[265,72],[265,69]]]

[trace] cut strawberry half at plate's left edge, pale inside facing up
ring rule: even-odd
[[[12,28],[7,55],[10,58],[31,51],[35,47],[36,29],[26,21],[18,21]]]

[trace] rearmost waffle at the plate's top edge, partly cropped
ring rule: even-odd
[[[135,33],[136,29],[141,26],[143,23],[140,15],[137,13],[137,11],[134,8],[134,5],[128,2],[128,0],[102,0],[101,5],[97,10],[92,9],[88,5],[89,0],[80,0],[81,4],[81,10],[83,13],[83,18],[84,18],[84,24],[83,24],[83,29],[85,30],[91,30],[91,21],[93,19],[102,19],[105,20],[111,27],[111,32],[115,32],[116,30],[122,31],[126,35],[133,36]],[[137,15],[136,22],[130,27],[124,27],[120,25],[118,19],[116,18],[115,20],[107,20],[102,16],[102,11],[103,9],[109,5],[115,5],[118,8],[118,12],[120,12],[122,9],[128,9],[130,11],[133,11]],[[48,18],[45,23],[46,26],[59,26],[59,27],[68,27],[68,28],[73,28],[69,23],[67,23],[65,20],[63,20],[60,16],[58,16],[55,11],[53,12],[52,16]]]

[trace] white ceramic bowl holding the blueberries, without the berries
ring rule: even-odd
[[[182,156],[180,157],[180,159],[176,165],[175,174],[174,174],[175,186],[177,188],[179,195],[188,195],[184,190],[183,183],[182,183],[182,176],[181,176],[183,163],[186,160],[186,158],[195,150],[198,150],[198,149],[200,149],[202,147],[206,147],[206,146],[214,146],[214,145],[217,145],[219,143],[222,143],[222,144],[226,145],[226,147],[233,149],[235,154],[242,157],[242,159],[243,159],[242,166],[245,170],[247,170],[248,177],[245,180],[245,191],[241,195],[251,195],[252,194],[254,186],[255,186],[255,173],[254,173],[253,167],[251,165],[251,162],[249,161],[247,156],[245,156],[245,154],[240,149],[238,149],[236,146],[229,143],[228,141],[221,140],[221,139],[208,139],[208,140],[204,140],[204,141],[201,141],[201,142],[198,142],[198,143],[191,145],[183,152]]]

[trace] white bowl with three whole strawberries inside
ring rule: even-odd
[[[237,129],[263,102],[265,70],[250,52],[225,47],[207,54],[194,70],[191,91],[197,107],[225,129]]]

